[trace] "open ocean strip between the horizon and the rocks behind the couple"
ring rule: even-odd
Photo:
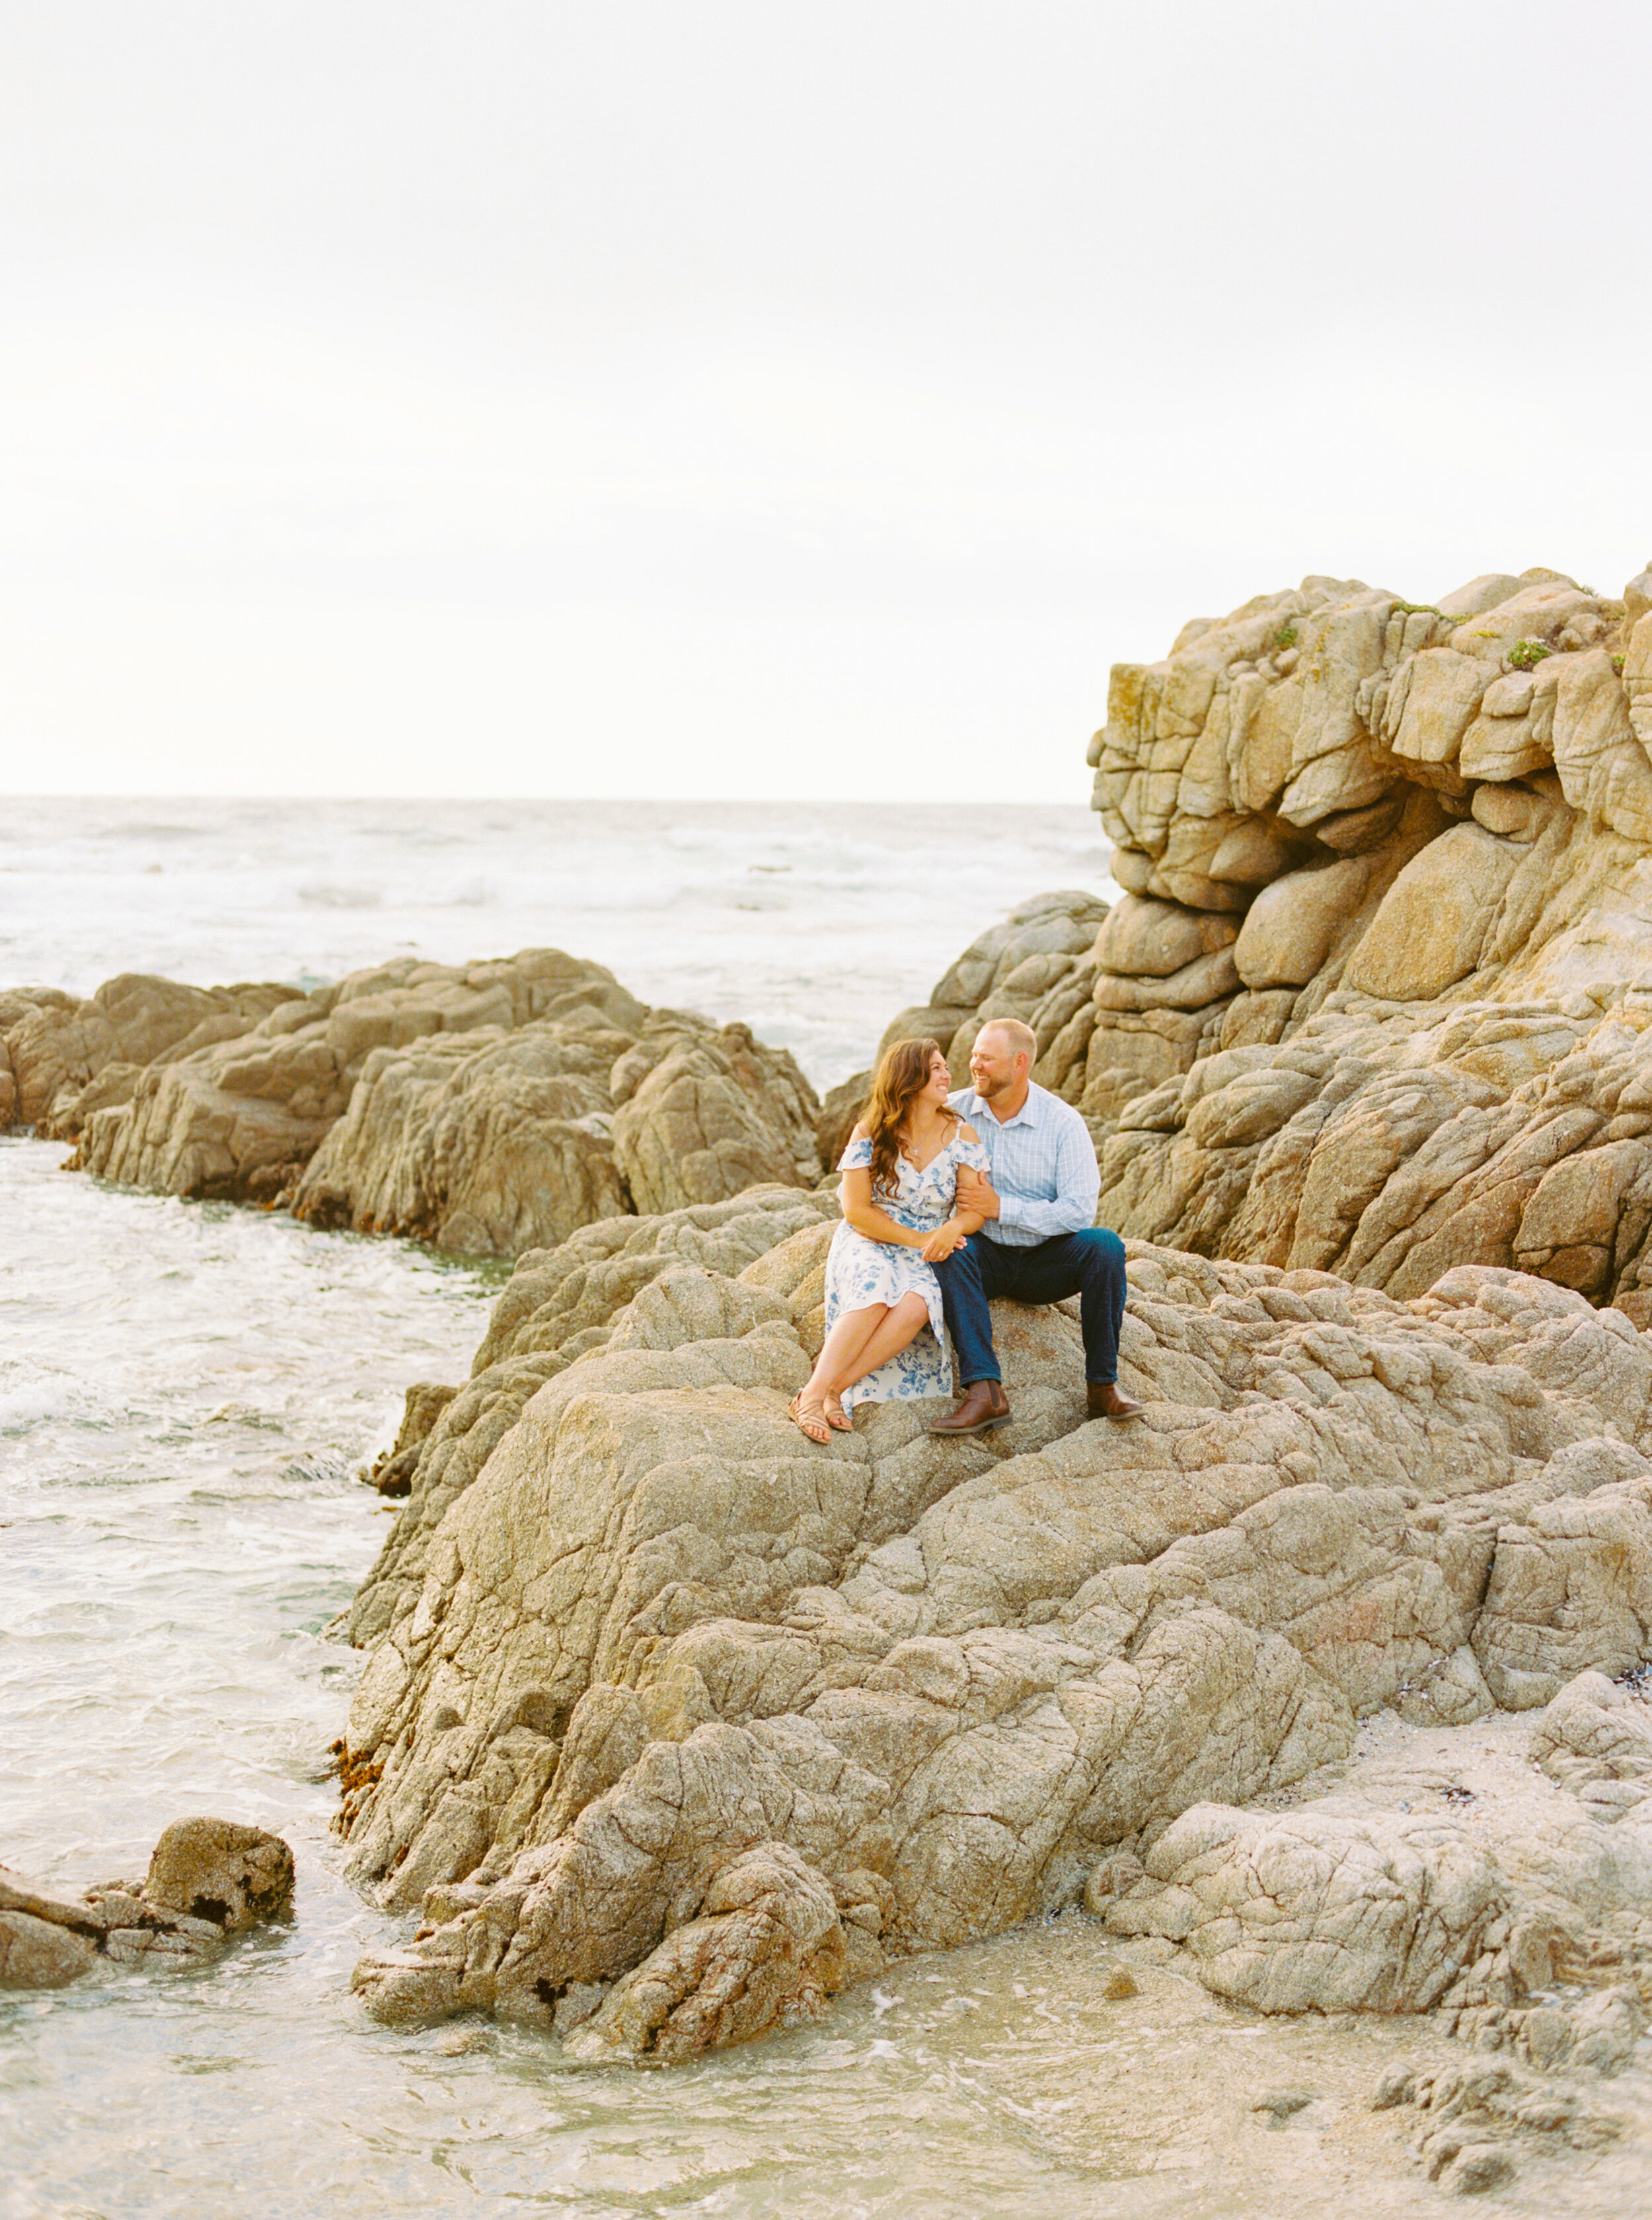
[[[0,986],[313,986],[551,946],[744,1019],[824,1090],[977,932],[1106,890],[1106,861],[1077,804],[11,799]]]

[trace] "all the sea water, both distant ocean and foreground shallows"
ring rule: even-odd
[[[0,986],[311,983],[553,944],[742,1017],[815,1086],[1019,899],[1108,890],[1084,808],[9,801]],[[1403,2025],[1268,2022],[1177,1967],[1108,2002],[1081,1914],[895,1967],[819,2027],[668,2073],[535,2034],[382,2029],[409,1927],[329,1832],[360,1658],[329,1623],[393,1510],[360,1472],[415,1379],[469,1372],[504,1268],[180,1203],[0,1137],[0,1860],[140,1874],[193,1812],[298,1856],[291,1927],[195,1974],[0,1994],[4,2220],[733,2216],[1330,2220],[1419,2209],[1363,2100]],[[1275,2133],[1255,2093],[1312,2091]],[[1603,2158],[1503,2211],[1608,2213]],[[1643,2176],[1639,2176],[1643,2182]]]

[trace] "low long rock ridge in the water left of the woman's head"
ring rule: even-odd
[[[815,1185],[819,1103],[746,1026],[531,948],[311,995],[113,979],[0,995],[0,1119],[104,1179],[517,1257],[597,1219]]]

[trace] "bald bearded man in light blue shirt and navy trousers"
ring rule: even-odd
[[[1032,1086],[1037,1052],[1030,1026],[990,1019],[975,1035],[970,1086],[950,1097],[981,1137],[993,1177],[959,1170],[957,1208],[981,1212],[986,1223],[935,1265],[964,1401],[930,1434],[979,1434],[1010,1416],[986,1308],[995,1294],[1017,1303],[1077,1294],[1090,1412],[1135,1419],[1141,1410],[1119,1394],[1124,1241],[1095,1223],[1101,1194],[1095,1141],[1070,1103]]]

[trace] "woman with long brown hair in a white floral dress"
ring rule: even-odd
[[[866,1117],[837,1166],[844,1223],[826,1259],[826,1343],[790,1407],[810,1441],[848,1432],[855,1403],[953,1392],[930,1265],[981,1223],[957,1210],[959,1163],[988,1163],[950,1088],[937,1041],[895,1041],[879,1057]]]

